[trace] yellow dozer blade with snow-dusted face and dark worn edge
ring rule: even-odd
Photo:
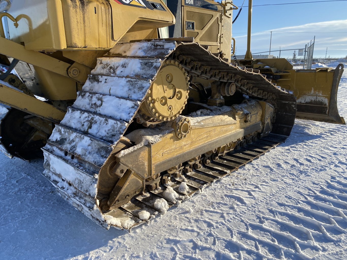
[[[346,124],[337,109],[337,90],[344,65],[296,71],[296,118]]]

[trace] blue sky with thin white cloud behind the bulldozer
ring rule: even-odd
[[[305,45],[314,36],[316,44],[314,57],[325,57],[328,47],[330,57],[347,55],[347,1],[303,3],[296,5],[262,6],[255,5],[308,2],[314,0],[253,0],[252,16],[252,52],[269,49],[270,31],[271,49],[280,46]],[[243,0],[234,0],[237,6]],[[245,0],[244,6],[248,6]],[[234,11],[234,17],[238,10]],[[236,51],[246,51],[248,8],[244,7],[233,25],[232,33],[236,38]],[[259,33],[264,32],[265,33]],[[301,32],[301,33],[279,33]],[[343,33],[341,33],[343,32]]]

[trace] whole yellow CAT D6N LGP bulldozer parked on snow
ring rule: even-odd
[[[0,0],[0,149],[129,231],[281,144],[345,123],[343,65],[232,62],[230,0]],[[12,73],[13,72],[13,73]],[[40,196],[40,194],[37,194]]]

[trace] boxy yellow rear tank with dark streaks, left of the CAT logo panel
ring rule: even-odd
[[[107,0],[22,1],[12,3],[8,11],[19,22],[18,28],[9,25],[11,40],[24,43],[27,50],[100,49],[114,45]]]

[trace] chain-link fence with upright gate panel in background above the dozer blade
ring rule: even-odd
[[[303,46],[286,46],[274,49],[252,51],[253,59],[284,58],[293,64],[294,69],[311,69],[313,61],[314,38]],[[244,59],[245,54],[236,55],[238,60]]]

